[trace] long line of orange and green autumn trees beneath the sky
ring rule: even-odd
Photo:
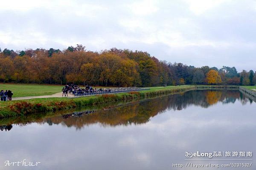
[[[0,49],[0,82],[162,86],[183,84],[254,85],[256,72],[235,67],[187,66],[159,61],[129,49],[87,51],[84,46],[59,49]]]

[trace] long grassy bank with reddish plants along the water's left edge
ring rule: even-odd
[[[50,112],[62,109],[105,104],[117,101],[132,101],[154,96],[185,92],[195,86],[168,86],[153,87],[150,90],[119,94],[106,94],[80,98],[38,98],[23,101],[0,102],[0,118],[17,115],[34,114],[37,112]]]

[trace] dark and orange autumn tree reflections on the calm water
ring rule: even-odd
[[[97,123],[102,126],[127,126],[130,124],[146,123],[151,117],[162,113],[166,109],[181,110],[191,105],[207,108],[217,102],[228,104],[235,103],[236,100],[241,101],[243,104],[249,101],[238,90],[193,90],[96,112],[90,109],[55,117],[40,117],[38,115],[36,118],[28,119],[27,122],[23,119],[21,123],[22,125],[31,122],[37,122],[39,124],[47,123],[49,125],[62,124],[67,127],[76,127],[76,129]]]

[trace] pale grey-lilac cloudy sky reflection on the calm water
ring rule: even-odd
[[[202,95],[197,93],[194,95]],[[160,101],[153,102],[166,101],[157,100]],[[51,126],[44,121],[22,127],[13,125],[12,130],[0,132],[0,166],[6,170],[29,169],[3,166],[5,160],[26,158],[40,161],[38,167],[30,168],[38,170],[178,170],[180,168],[172,167],[173,163],[192,162],[184,160],[185,151],[256,153],[256,103],[244,100],[224,104],[224,100],[218,99],[210,107],[190,103],[181,110],[165,109],[142,124],[102,126],[97,122],[86,124],[80,130],[76,126],[67,127],[63,122]],[[79,120],[81,118],[76,119]]]

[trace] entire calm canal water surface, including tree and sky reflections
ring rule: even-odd
[[[102,111],[21,119],[0,121],[0,170],[256,169],[253,156],[225,157],[226,151],[256,154],[256,103],[238,90],[195,90]],[[196,151],[224,155],[185,160],[198,159],[185,157]],[[41,163],[4,166],[23,159]],[[236,162],[252,166],[173,167]]]

